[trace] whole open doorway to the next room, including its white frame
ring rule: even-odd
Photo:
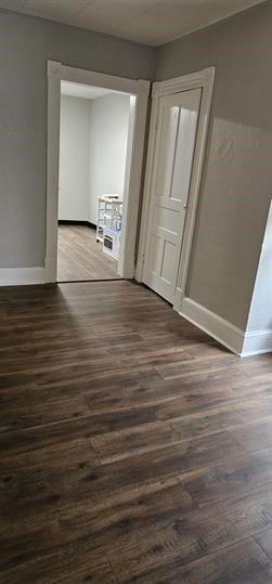
[[[46,282],[134,277],[150,85],[48,62]]]

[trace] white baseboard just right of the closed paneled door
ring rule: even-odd
[[[221,342],[221,345],[237,355],[242,355],[244,332],[241,328],[237,328],[191,298],[182,299],[180,314]]]

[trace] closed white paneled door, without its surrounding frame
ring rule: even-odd
[[[173,302],[202,89],[159,98],[143,282]]]

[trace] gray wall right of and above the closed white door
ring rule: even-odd
[[[272,194],[272,4],[158,49],[156,79],[217,66],[186,294],[246,328]]]

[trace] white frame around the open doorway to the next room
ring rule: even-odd
[[[59,161],[60,161],[60,118],[61,81],[70,81],[113,91],[121,91],[135,96],[135,116],[131,152],[127,156],[131,165],[126,166],[129,180],[126,193],[126,221],[122,225],[121,245],[124,257],[120,275],[134,276],[137,226],[143,168],[143,152],[150,81],[127,79],[104,75],[48,61],[48,144],[47,144],[47,232],[46,232],[46,282],[57,281],[57,207],[59,207]],[[125,179],[126,180],[126,179]]]

